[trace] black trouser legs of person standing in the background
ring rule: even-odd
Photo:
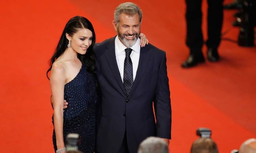
[[[223,21],[223,0],[207,0],[208,3],[208,48],[218,48],[220,44],[221,28]],[[202,54],[203,46],[202,25],[202,0],[186,0],[187,37],[186,45],[191,54]]]

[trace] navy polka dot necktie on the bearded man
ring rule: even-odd
[[[133,63],[131,61],[131,48],[125,49],[125,62],[123,69],[123,84],[126,90],[126,94],[129,95],[131,88],[133,86]]]

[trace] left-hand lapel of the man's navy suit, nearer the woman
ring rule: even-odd
[[[123,85],[123,81],[121,79],[121,75],[116,63],[116,57],[115,57],[115,37],[113,37],[112,40],[110,40],[110,43],[106,46],[106,48],[108,49],[105,52],[105,57],[108,61],[108,64],[110,66],[110,69],[113,73],[113,75],[115,76],[115,79],[117,81],[117,83],[119,84],[121,90],[123,90],[123,93],[126,95],[126,91]],[[126,95],[127,96],[127,95]]]

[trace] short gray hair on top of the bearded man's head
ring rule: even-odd
[[[127,14],[129,16],[134,16],[136,13],[138,13],[140,18],[140,23],[141,23],[142,12],[141,12],[141,8],[138,5],[131,2],[126,2],[126,3],[121,3],[118,7],[116,7],[114,18],[117,24],[120,21],[119,17],[121,13]]]

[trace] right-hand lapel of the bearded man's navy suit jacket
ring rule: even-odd
[[[137,86],[139,85],[139,82],[141,81],[141,79],[146,71],[148,62],[150,60],[150,55],[147,54],[148,49],[149,49],[148,45],[146,45],[145,47],[141,47],[139,65],[138,65],[135,80],[133,82],[133,87],[132,87],[129,95],[132,95],[134,90],[136,90]]]

